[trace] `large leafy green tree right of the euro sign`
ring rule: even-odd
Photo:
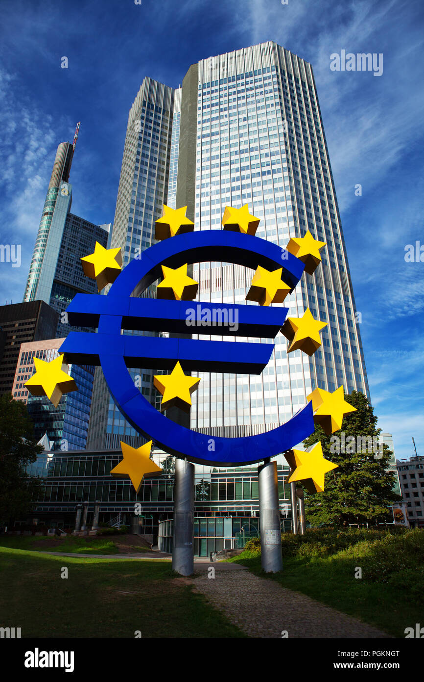
[[[325,489],[305,494],[306,518],[312,525],[382,522],[387,506],[399,500],[393,492],[394,473],[388,469],[391,451],[380,443],[376,452],[378,417],[368,398],[359,391],[344,399],[356,407],[343,419],[342,429],[327,436],[321,426],[304,441],[309,447],[321,441],[325,459],[338,464],[325,475]]]

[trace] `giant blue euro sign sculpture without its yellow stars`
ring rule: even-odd
[[[165,239],[142,252],[118,275],[108,295],[77,294],[67,308],[71,325],[98,327],[97,333],[72,331],[60,353],[69,363],[99,365],[105,381],[125,419],[165,452],[191,462],[217,466],[252,464],[291,449],[314,431],[312,402],[286,424],[255,436],[222,438],[185,428],[167,419],[142,396],[127,368],[173,368],[183,370],[259,374],[267,365],[274,344],[225,342],[191,338],[126,336],[122,329],[205,333],[201,314],[214,303],[140,298],[161,277],[161,265],[173,269],[185,263],[225,261],[257,269],[282,267],[282,279],[291,290],[304,271],[304,264],[276,244],[259,237],[231,231],[197,231]],[[188,307],[195,315],[187,326]],[[224,321],[238,315],[238,329],[222,324],[208,327],[208,334],[273,339],[286,318],[287,308],[234,306],[219,303]]]

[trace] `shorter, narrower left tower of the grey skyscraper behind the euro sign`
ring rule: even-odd
[[[178,104],[178,98],[175,99]],[[110,239],[110,248],[122,248],[123,267],[154,243],[154,221],[161,218],[169,183],[175,193],[178,143],[172,140],[173,115],[174,89],[152,78],[144,78],[129,111],[114,228]],[[104,291],[107,292],[108,287]],[[144,295],[154,295],[154,286]],[[126,333],[140,332],[129,330]],[[154,404],[154,372],[143,368],[130,371],[142,394]],[[120,447],[120,441],[133,446],[144,443],[144,439],[116,408],[103,374],[97,369],[87,447],[116,448]]]

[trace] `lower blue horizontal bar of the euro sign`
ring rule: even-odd
[[[105,297],[106,298],[106,297]],[[172,369],[179,361],[187,372],[260,374],[274,349],[272,343],[203,341],[152,336],[125,336],[71,331],[60,353],[65,361],[100,365],[102,357],[123,357],[127,367]]]

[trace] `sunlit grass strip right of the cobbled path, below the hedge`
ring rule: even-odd
[[[260,554],[245,551],[228,561],[241,563],[256,575],[276,580],[283,587],[404,638],[406,627],[423,622],[422,602],[414,599],[408,589],[402,589],[402,578],[398,589],[355,578],[355,567],[363,565],[362,559],[348,557],[345,552],[325,558],[291,557],[283,560],[283,571],[274,575],[262,572]]]

